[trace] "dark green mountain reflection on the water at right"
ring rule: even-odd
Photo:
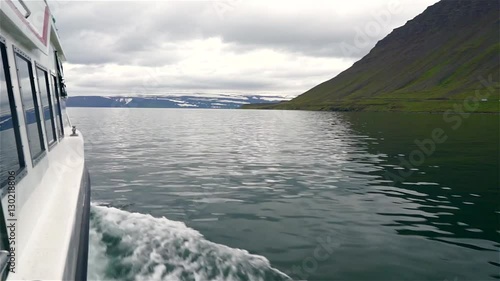
[[[475,115],[418,166],[402,167],[402,158],[415,149],[415,140],[436,127],[446,128],[440,115],[345,114],[358,134],[380,141],[367,142],[368,153],[383,153],[386,186],[370,184],[369,193],[398,198],[401,208],[378,214],[392,218],[383,224],[399,235],[491,252],[488,263],[498,272],[500,248],[499,124],[495,116]],[[397,118],[397,121],[395,119]],[[409,128],[411,126],[411,128]],[[403,170],[403,173],[401,173]],[[392,175],[408,175],[400,178]],[[499,278],[498,274],[490,277]]]

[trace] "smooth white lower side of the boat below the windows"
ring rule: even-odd
[[[82,201],[88,200],[81,195],[85,192],[82,187],[88,187],[82,185],[86,169],[81,133],[76,137],[67,135],[47,158],[48,170],[18,215],[17,221],[23,227],[17,230],[16,244],[23,248],[16,253],[19,271],[9,274],[10,280],[75,280],[64,274],[77,271],[75,258],[68,256],[79,251],[75,228],[86,231],[81,225],[83,210],[79,210]],[[19,189],[24,182],[20,182]]]

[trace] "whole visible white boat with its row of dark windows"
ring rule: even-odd
[[[0,280],[87,279],[90,178],[54,22],[43,0],[0,1]]]

